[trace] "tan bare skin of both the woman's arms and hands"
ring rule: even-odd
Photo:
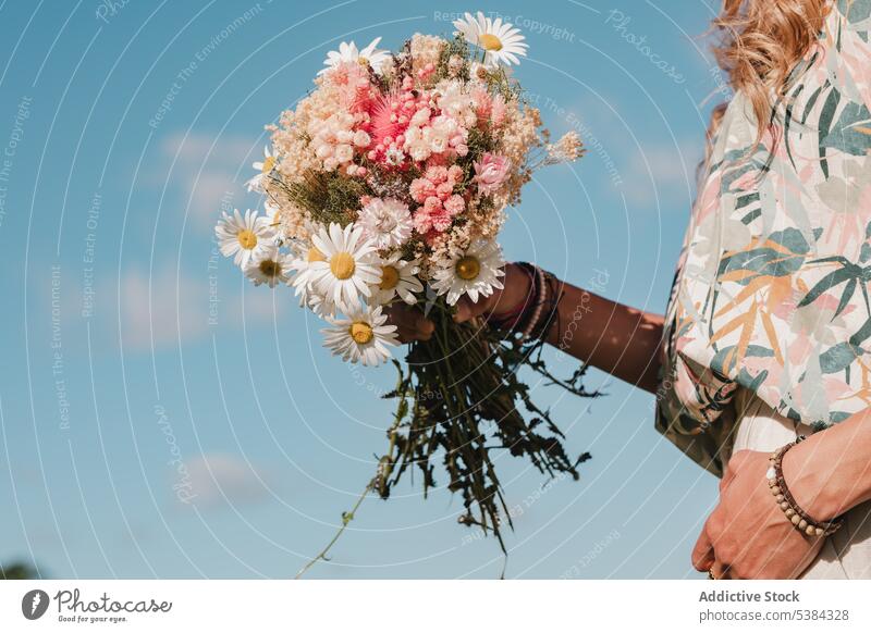
[[[507,264],[504,286],[477,303],[463,297],[455,320],[511,314],[527,300],[531,284],[522,269]],[[661,314],[571,284],[564,285],[559,311],[560,318],[545,335],[548,343],[646,392],[657,392]],[[404,343],[432,336],[432,322],[416,308],[394,305],[390,318]],[[871,410],[812,435],[784,457],[784,479],[812,518],[829,520],[871,499],[871,423],[866,423],[866,415]],[[720,501],[692,551],[692,564],[699,571],[710,570],[719,579],[798,578],[820,551],[823,539],[796,530],[769,492],[769,455],[741,450],[729,459],[720,483]]]

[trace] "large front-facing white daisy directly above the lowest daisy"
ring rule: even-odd
[[[312,234],[311,241],[323,256],[309,264],[318,293],[342,309],[353,308],[360,295],[371,294],[369,286],[378,283],[380,271],[375,245],[364,239],[363,228],[351,223],[343,229],[333,222]]]

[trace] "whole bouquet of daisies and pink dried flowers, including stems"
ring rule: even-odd
[[[505,339],[484,322],[458,324],[457,300],[501,288],[498,234],[505,209],[532,172],[577,159],[574,133],[549,140],[507,66],[526,54],[523,35],[480,12],[454,23],[452,39],[414,35],[396,53],[342,44],[315,89],[269,125],[250,189],[266,214],[224,213],[216,233],[255,284],[286,284],[324,319],[324,345],[348,362],[392,359],[394,302],[419,306],[436,324],[408,347],[398,369],[389,449],[366,487],[387,498],[409,467],[436,483],[442,457],[447,488],[463,495],[461,522],[493,532],[507,513],[490,457],[527,456],[551,475],[571,473],[561,433],[517,378],[531,368],[579,395],[582,370],[548,372],[537,345]],[[517,410],[523,404],[532,419]],[[360,498],[360,500],[363,497]],[[346,512],[344,524],[353,517]]]

